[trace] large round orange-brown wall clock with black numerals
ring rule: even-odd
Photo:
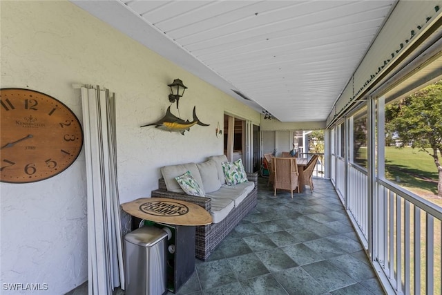
[[[81,146],[81,125],[59,100],[28,89],[0,90],[1,182],[57,175],[77,159]]]

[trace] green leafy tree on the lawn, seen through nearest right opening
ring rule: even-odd
[[[386,142],[394,140],[399,149],[411,146],[432,157],[442,197],[442,80],[386,106],[385,134]]]

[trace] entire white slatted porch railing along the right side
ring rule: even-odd
[[[344,194],[344,161],[337,158],[336,165],[336,191]],[[366,249],[372,240],[371,260],[381,270],[381,282],[397,294],[441,294],[441,207],[388,180],[376,180],[369,208],[367,185],[367,171],[349,164],[343,200]]]

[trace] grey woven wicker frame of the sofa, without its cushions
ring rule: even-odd
[[[258,173],[247,173],[249,181],[255,182],[255,188],[247,195],[238,207],[233,208],[230,213],[218,223],[196,227],[195,232],[195,257],[200,260],[209,258],[213,250],[220,242],[238,225],[258,202]],[[211,210],[211,199],[206,197],[189,196],[186,193],[175,193],[166,191],[164,180],[158,180],[159,189],[152,191],[153,198],[171,198],[193,202],[206,209]]]

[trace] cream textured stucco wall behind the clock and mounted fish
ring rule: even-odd
[[[215,128],[224,112],[260,122],[260,114],[67,1],[0,1],[1,88],[29,88],[51,95],[81,117],[80,91],[93,84],[117,93],[117,158],[120,202],[150,196],[159,168],[196,162],[223,152]],[[189,87],[180,113],[193,106],[209,127],[169,133],[154,127],[169,106],[166,86],[180,78]],[[0,184],[1,288],[3,283],[47,284],[64,294],[87,271],[84,151],[63,173],[31,184]],[[23,291],[14,294],[32,294]],[[39,293],[39,292],[37,292]],[[7,293],[6,293],[7,294]]]

